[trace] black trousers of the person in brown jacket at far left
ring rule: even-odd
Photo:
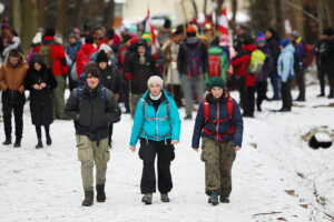
[[[24,107],[24,94],[17,98],[14,102],[3,99],[2,93],[2,112],[3,112],[3,125],[6,139],[11,140],[11,112],[14,114],[16,122],[16,139],[20,140],[22,138],[23,131],[23,107]]]

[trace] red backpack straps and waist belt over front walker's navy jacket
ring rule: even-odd
[[[232,115],[233,115],[233,100],[230,97],[227,98],[227,112],[228,112],[228,118],[225,119],[218,119],[218,120],[212,120],[209,119],[209,110],[210,110],[210,104],[204,100],[203,101],[203,109],[204,109],[204,119],[205,122],[210,122],[210,123],[217,123],[219,124],[219,122],[226,122],[232,120]],[[203,132],[207,133],[207,134],[212,134],[212,135],[216,135],[216,140],[217,141],[222,141],[222,138],[226,137],[227,134],[233,134],[235,132],[234,125],[230,127],[230,129],[228,130],[228,132],[226,133],[219,133],[219,132],[213,132],[209,131],[207,128],[203,128]]]

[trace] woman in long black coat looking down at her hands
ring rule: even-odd
[[[43,148],[41,125],[45,127],[47,144],[52,143],[50,124],[53,122],[53,97],[51,90],[57,88],[57,80],[51,69],[47,69],[43,58],[33,54],[24,79],[24,87],[30,91],[30,112],[32,124],[36,125],[38,143],[36,149]]]

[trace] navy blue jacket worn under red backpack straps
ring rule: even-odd
[[[209,93],[206,97],[206,101],[209,103],[209,114],[208,118],[210,120],[217,120],[218,119],[226,119],[229,118],[228,111],[227,111],[227,99],[220,98],[218,100],[215,100],[213,95]],[[217,112],[218,110],[218,112]],[[234,125],[235,132],[233,134],[223,135],[224,133],[227,133],[230,130],[230,127]],[[196,117],[196,122],[194,127],[194,134],[193,134],[193,148],[199,148],[199,139],[200,135],[215,140],[215,134],[208,134],[203,131],[203,129],[206,128],[212,132],[218,132],[220,133],[220,139],[223,142],[229,142],[233,141],[234,145],[242,147],[243,142],[243,131],[244,131],[244,123],[243,123],[243,117],[240,113],[240,108],[238,103],[233,99],[233,114],[232,114],[232,121],[225,121],[219,123],[213,123],[213,122],[205,122],[204,117],[204,105],[203,102],[199,104],[199,109]]]

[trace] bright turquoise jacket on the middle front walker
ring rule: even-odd
[[[138,101],[134,118],[130,145],[136,145],[139,138],[161,141],[165,139],[178,140],[180,134],[180,119],[177,105],[170,93],[163,90],[165,100],[157,111],[149,101],[147,90]],[[167,113],[169,110],[169,114]]]

